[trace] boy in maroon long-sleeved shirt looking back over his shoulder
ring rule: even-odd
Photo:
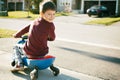
[[[13,35],[15,38],[20,38],[28,32],[28,40],[23,47],[23,51],[28,58],[39,58],[48,53],[47,41],[55,39],[55,26],[52,22],[55,18],[55,13],[55,4],[50,1],[46,2],[42,8],[41,18],[36,19]],[[23,70],[21,51],[17,46],[14,47],[14,57],[15,66],[12,71]]]

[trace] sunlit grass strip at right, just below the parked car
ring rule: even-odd
[[[117,18],[101,18],[92,21],[86,22],[86,24],[103,24],[103,25],[110,25],[114,22],[120,21],[120,17]]]

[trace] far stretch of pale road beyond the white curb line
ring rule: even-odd
[[[120,27],[84,25],[84,22],[93,19],[96,18],[89,18],[86,15],[57,17],[55,19],[57,39],[120,49],[118,37]],[[0,27],[19,30],[30,22],[28,19],[0,19]]]

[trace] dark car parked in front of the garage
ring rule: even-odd
[[[94,5],[87,9],[87,14],[89,17],[92,15],[97,15],[98,17],[109,16],[109,11],[105,6]]]

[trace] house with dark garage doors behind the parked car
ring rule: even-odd
[[[75,13],[86,13],[86,10],[92,5],[104,5],[111,14],[120,14],[120,0],[57,0],[57,10],[69,11]]]

